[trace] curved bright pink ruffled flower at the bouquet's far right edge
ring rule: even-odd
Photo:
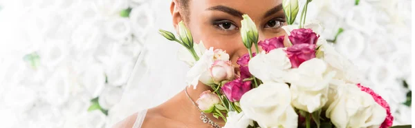
[[[382,125],[380,125],[380,128],[391,127],[394,122],[394,116],[392,116],[391,108],[389,107],[389,104],[386,102],[386,100],[384,100],[381,96],[376,94],[374,90],[370,89],[369,87],[362,86],[360,85],[360,83],[358,84],[358,87],[363,92],[370,94],[374,98],[376,103],[378,103],[380,106],[386,109],[387,116],[385,118],[385,121],[382,122]]]

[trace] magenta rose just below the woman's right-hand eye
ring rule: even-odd
[[[266,39],[259,41],[258,45],[262,47],[266,53],[279,47],[284,47],[284,36],[274,37],[272,39]]]

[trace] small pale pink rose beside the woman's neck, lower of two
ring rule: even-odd
[[[196,100],[196,103],[202,111],[210,113],[213,111],[214,105],[221,103],[221,100],[219,96],[208,90],[201,94],[200,98]]]

